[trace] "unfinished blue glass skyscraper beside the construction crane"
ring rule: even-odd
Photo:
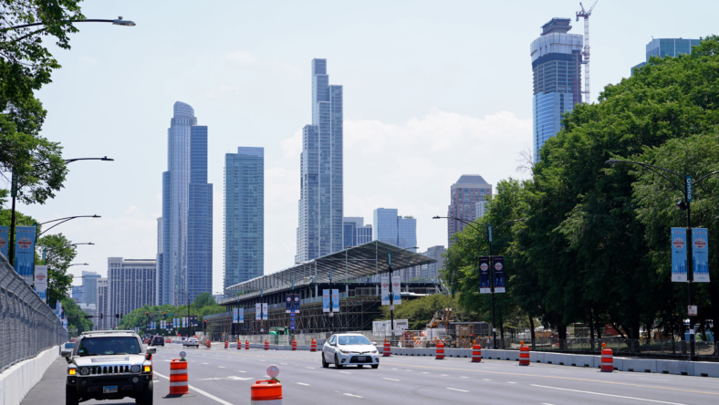
[[[534,158],[547,139],[562,128],[562,114],[582,102],[581,63],[583,37],[568,34],[569,18],[552,18],[532,42],[534,97],[532,119]]]

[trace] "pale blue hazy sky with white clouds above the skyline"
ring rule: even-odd
[[[591,1],[591,0],[589,0]],[[265,148],[265,273],[294,264],[302,127],[311,123],[310,62],[328,59],[344,86],[344,214],[376,208],[417,218],[421,251],[447,244],[453,182],[491,184],[517,171],[532,143],[529,45],[577,1],[86,1],[71,49],[47,39],[62,68],[37,92],[43,135],[70,158],[65,188],[18,210],[78,246],[70,273],[107,274],[108,257],[155,258],[172,104],[209,131],[214,184],[213,292],[223,281],[224,153]],[[586,4],[589,5],[589,2]],[[591,102],[630,74],[653,37],[714,34],[719,3],[600,0],[590,18]],[[6,186],[3,184],[2,186]],[[75,285],[80,284],[76,279]]]

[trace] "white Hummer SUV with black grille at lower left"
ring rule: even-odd
[[[133,398],[152,405],[152,354],[130,330],[84,332],[75,348],[63,350],[68,361],[66,405],[85,400]]]

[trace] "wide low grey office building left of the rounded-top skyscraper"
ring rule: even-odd
[[[109,314],[130,314],[133,309],[154,305],[156,265],[152,259],[108,257]],[[178,305],[185,302],[183,299]]]

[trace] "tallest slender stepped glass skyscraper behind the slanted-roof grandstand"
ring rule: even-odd
[[[342,86],[330,86],[327,59],[312,60],[312,125],[302,129],[295,262],[342,246]]]

